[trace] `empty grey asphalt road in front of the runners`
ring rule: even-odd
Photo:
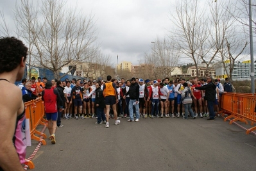
[[[95,122],[62,120],[56,144],[46,140],[33,158],[34,170],[256,170],[255,134],[223,118],[121,118],[109,128]],[[37,144],[32,140],[27,156]]]

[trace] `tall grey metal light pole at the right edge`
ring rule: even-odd
[[[252,35],[252,1],[249,0],[249,17],[250,17],[250,55],[251,55],[251,92],[254,95],[255,82],[254,82],[254,59],[253,59],[253,35]]]

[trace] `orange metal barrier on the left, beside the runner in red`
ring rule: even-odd
[[[25,102],[26,109],[26,118],[30,119],[30,136],[31,140],[37,140],[38,142],[42,142],[43,145],[46,145],[46,141],[40,136],[46,138],[46,134],[40,133],[37,131],[37,126],[39,124],[45,125],[47,120],[44,117],[44,102],[41,99],[33,100],[30,102]],[[39,136],[36,136],[38,134]]]

